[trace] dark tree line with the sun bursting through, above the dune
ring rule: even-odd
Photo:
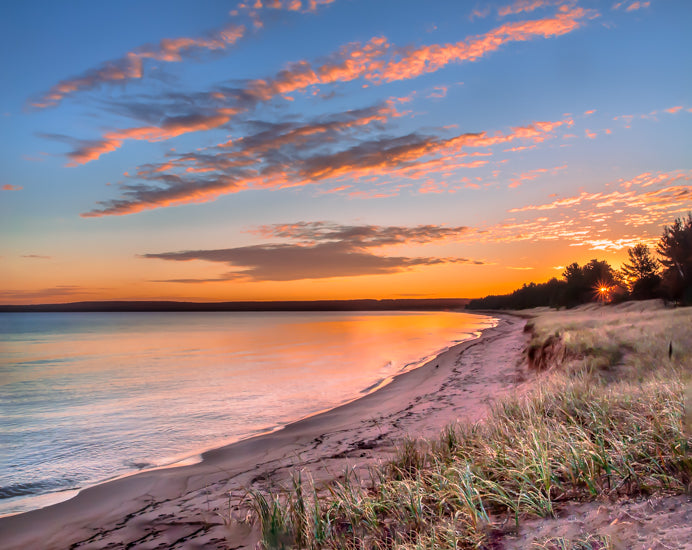
[[[639,243],[627,251],[620,269],[593,259],[574,262],[545,283],[524,284],[510,294],[471,300],[469,309],[574,307],[580,304],[664,298],[692,305],[692,213],[665,226],[654,252]]]

